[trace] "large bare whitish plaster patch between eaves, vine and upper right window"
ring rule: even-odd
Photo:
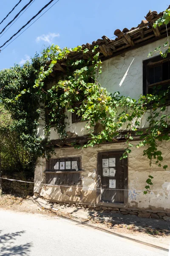
[[[122,96],[138,99],[143,93],[142,61],[148,58],[150,52],[153,52],[156,47],[162,46],[166,41],[167,38],[163,38],[103,61],[102,74],[99,78],[102,87],[105,87],[108,92],[119,91]],[[154,56],[156,55],[159,55],[159,52],[154,54]]]

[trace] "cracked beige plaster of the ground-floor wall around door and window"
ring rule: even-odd
[[[165,171],[163,168],[155,164],[150,167],[149,161],[143,157],[144,148],[136,148],[136,143],[132,148],[132,152],[128,156],[128,204],[130,208],[165,210],[170,212],[170,143],[161,143],[163,151],[164,163],[169,167]],[[40,186],[45,181],[45,161],[41,158],[35,169],[35,185],[34,190],[40,192],[51,201],[80,202],[80,203],[96,203],[96,169],[97,169],[97,153],[108,150],[122,150],[127,146],[125,143],[109,144],[94,146],[93,148],[75,149],[61,148],[56,150],[56,156],[59,157],[82,157],[82,189],[78,186],[75,188],[61,188],[55,186]],[[153,186],[152,192],[143,195],[144,187],[148,175],[152,175]],[[94,189],[94,190],[93,190]]]

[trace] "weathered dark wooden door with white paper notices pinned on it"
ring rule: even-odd
[[[127,159],[120,160],[123,151],[99,153],[101,201],[124,203],[127,189]],[[122,190],[121,190],[122,189]]]

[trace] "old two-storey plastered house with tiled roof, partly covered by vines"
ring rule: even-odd
[[[163,85],[170,82],[170,58],[162,61],[159,53],[148,58],[149,52],[167,41],[170,26],[167,29],[166,26],[153,28],[153,22],[161,16],[162,13],[150,11],[146,20],[142,20],[138,27],[122,31],[116,29],[113,40],[103,36],[92,44],[82,46],[92,49],[94,45],[99,45],[102,60],[99,82],[108,92],[119,91],[121,95],[137,100],[141,94],[151,93],[158,76]],[[82,53],[75,58],[81,59]],[[62,72],[62,68],[56,69]],[[84,128],[86,122],[81,122],[76,114],[67,115],[68,137],[64,143],[60,143],[57,132],[51,128],[50,139],[55,147],[55,154],[51,154],[48,161],[42,157],[38,159],[34,192],[53,202],[109,207],[128,213],[134,210],[135,215],[169,218],[169,169],[164,170],[155,164],[150,166],[147,157],[143,156],[142,147],[133,147],[128,158],[120,160],[127,147],[123,135],[112,142],[94,147],[74,148],[71,143],[83,145],[88,141],[89,131]],[[40,120],[38,136],[42,136],[43,125]],[[142,120],[141,128],[146,128],[147,125]],[[133,145],[137,143],[139,137],[136,137]],[[170,143],[162,142],[160,147],[164,163],[170,166]],[[154,177],[154,182],[152,191],[144,195],[148,175]]]

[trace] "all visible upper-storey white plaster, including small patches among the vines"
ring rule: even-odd
[[[149,52],[153,51],[156,47],[164,44],[167,39],[161,39],[147,44],[137,49],[129,50],[123,55],[118,55],[102,63],[102,74],[99,78],[99,82],[102,87],[105,87],[108,92],[114,93],[120,92],[120,95],[130,96],[133,99],[138,99],[143,92],[143,66],[142,62],[146,60]],[[155,55],[158,55],[157,52]],[[55,83],[55,82],[54,82]],[[52,85],[54,85],[54,83]],[[50,86],[50,85],[49,85]],[[42,116],[43,116],[42,111]],[[71,122],[71,113],[66,111],[68,116],[66,125],[66,132],[74,134],[74,136],[82,136],[89,133],[89,130],[85,128],[86,122]],[[141,126],[144,128],[148,126],[146,123],[147,116],[145,115],[141,120]],[[40,118],[40,126],[38,127],[37,136],[44,137],[44,121]],[[50,139],[57,140],[59,138],[57,131],[51,128]]]

